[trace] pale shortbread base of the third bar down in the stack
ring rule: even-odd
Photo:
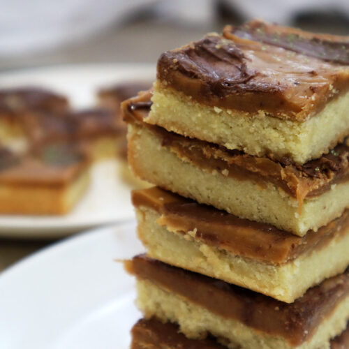
[[[139,207],[136,212],[138,236],[151,258],[287,303],[349,265],[349,231],[320,250],[304,253],[284,265],[271,265],[204,244],[195,239],[195,232],[170,232],[156,223],[160,214],[147,207]]]

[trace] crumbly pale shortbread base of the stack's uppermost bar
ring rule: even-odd
[[[153,105],[145,121],[191,138],[198,138],[247,154],[276,158],[290,156],[305,163],[326,153],[349,133],[349,93],[329,102],[311,119],[298,122],[270,117],[260,111],[209,107],[164,84],[155,84]]]

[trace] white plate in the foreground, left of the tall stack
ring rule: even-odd
[[[70,237],[0,275],[1,349],[127,349],[140,318],[114,259],[143,251],[135,223]]]

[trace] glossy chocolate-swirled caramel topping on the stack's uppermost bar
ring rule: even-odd
[[[297,36],[297,47],[301,42],[316,43],[316,52],[325,52],[324,60],[305,55],[305,48],[301,54],[296,52],[300,50],[296,45],[292,50],[281,45],[281,41],[287,43],[283,38],[289,31],[295,35],[293,29],[282,28],[279,41],[270,45],[262,42],[260,35],[249,34],[254,33],[253,23],[227,27],[223,36],[209,34],[163,53],[158,59],[162,88],[171,87],[205,105],[252,114],[262,111],[297,121],[309,119],[332,98],[348,90],[348,62],[332,61],[337,54],[341,61],[346,57],[348,37],[331,37],[329,49],[328,36],[323,40],[313,34]],[[275,26],[263,26],[265,32],[275,32]],[[311,47],[310,43],[307,47]],[[342,50],[341,45],[346,48]]]

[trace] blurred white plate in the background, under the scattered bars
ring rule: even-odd
[[[100,87],[121,81],[148,81],[154,77],[154,66],[149,65],[55,66],[2,73],[0,87],[47,87],[68,95],[73,107],[89,107],[94,105]],[[117,161],[104,161],[92,169],[91,187],[70,214],[63,217],[0,216],[0,236],[57,238],[132,217],[130,188],[119,179]]]

